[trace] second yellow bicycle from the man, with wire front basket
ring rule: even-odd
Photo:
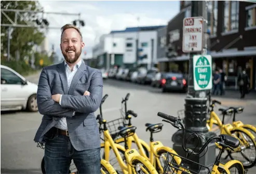
[[[103,97],[103,102],[105,100],[105,96]],[[127,93],[125,99],[122,100],[122,104],[124,103],[125,106],[125,117],[124,118],[119,118],[119,119],[115,119],[112,120],[110,122],[107,122],[107,125],[119,125],[118,127],[116,126],[116,128],[120,129],[124,129],[126,126],[131,127],[131,115],[133,117],[137,117],[137,114],[135,114],[132,110],[128,110],[127,111],[127,101],[129,98],[129,93]],[[103,103],[102,102],[102,103]],[[101,113],[101,117],[102,117],[102,103],[100,105],[100,113]],[[125,120],[128,120],[128,123],[125,122]],[[140,139],[137,135],[137,133],[134,133],[129,139],[127,139],[127,145],[128,148],[131,149],[132,144],[136,145],[138,147],[138,151],[140,153],[140,155],[144,156],[147,160],[149,160],[151,162],[151,164],[156,168],[158,173],[163,173],[164,169],[164,161],[166,160],[166,154],[168,152],[170,153],[176,153],[173,149],[171,149],[170,147],[166,147],[164,146],[160,141],[154,141],[153,138],[153,133],[157,133],[160,132],[163,128],[163,124],[162,123],[158,123],[158,124],[151,124],[151,123],[146,123],[145,126],[146,131],[150,131],[150,146],[147,145],[147,143],[145,143],[144,140]],[[111,126],[108,126],[108,128],[111,128]],[[118,137],[117,136],[117,131],[115,131],[115,133],[113,134],[113,130],[111,131],[111,135],[112,137],[115,137],[114,141],[117,144],[122,144],[125,142],[125,138],[123,137]],[[177,163],[179,163],[181,160],[179,157],[174,156],[175,160],[177,161]]]

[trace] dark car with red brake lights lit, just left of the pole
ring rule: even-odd
[[[187,79],[182,73],[165,73],[161,80],[162,92],[168,90],[187,91]]]

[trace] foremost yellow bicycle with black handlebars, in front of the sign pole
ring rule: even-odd
[[[215,136],[215,137],[209,138],[206,141],[206,143],[204,144],[204,146],[198,152],[194,152],[194,150],[192,150],[192,149],[185,148],[185,145],[184,145],[185,144],[185,142],[184,142],[185,141],[185,131],[187,131],[187,130],[185,129],[184,124],[182,123],[181,119],[178,117],[169,116],[169,115],[166,115],[166,114],[160,113],[160,112],[157,115],[161,118],[164,118],[165,120],[163,120],[163,121],[168,122],[168,123],[172,124],[172,126],[174,126],[175,128],[182,130],[183,136],[182,136],[181,145],[182,145],[183,150],[186,152],[185,157],[179,156],[177,154],[171,154],[172,156],[180,157],[180,159],[182,159],[181,163],[177,164],[176,161],[173,161],[173,158],[171,161],[167,158],[166,164],[164,167],[164,173],[176,173],[176,174],[183,174],[183,173],[195,174],[196,173],[196,174],[199,174],[202,167],[208,171],[208,174],[210,174],[210,173],[211,174],[221,174],[221,173],[222,174],[227,174],[227,173],[230,174],[234,170],[235,170],[236,174],[244,174],[245,173],[241,162],[239,162],[237,160],[231,160],[231,161],[227,162],[226,164],[220,163],[221,155],[225,149],[234,150],[233,148],[237,148],[239,146],[238,139],[236,139],[232,136],[229,136],[229,135],[224,135],[224,134]],[[195,134],[197,137],[199,135],[192,131],[190,131],[190,132],[192,134]],[[190,155],[199,155],[201,152],[203,152],[204,149],[207,147],[207,145],[211,141],[215,141],[215,143],[218,144],[221,149],[217,158],[215,159],[212,170],[210,170],[208,167],[206,167],[204,165],[198,164],[198,163],[193,162],[192,160],[188,159],[188,157]],[[193,164],[199,166],[199,169],[198,170],[191,169],[190,166]]]

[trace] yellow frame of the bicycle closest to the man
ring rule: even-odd
[[[127,137],[128,141],[130,141],[130,137]],[[124,174],[131,174],[134,173],[134,166],[130,163],[132,160],[140,160],[140,161],[145,161],[144,157],[142,157],[139,152],[136,149],[128,149],[125,150],[125,148],[121,145],[118,145],[114,142],[114,140],[112,139],[109,130],[104,130],[104,140],[105,142],[101,144],[101,147],[104,147],[105,149],[105,159],[106,161],[109,161],[109,154],[110,154],[110,147],[113,149],[115,155],[116,155],[116,159],[120,165],[120,167],[123,170]],[[125,152],[125,157],[126,157],[126,162],[128,163],[128,165],[126,165],[120,155],[120,153],[118,152],[118,149],[123,150]],[[146,161],[145,163],[150,163],[150,161]],[[148,166],[147,166],[148,167]],[[152,166],[149,167],[149,169],[151,171],[154,171],[155,168]]]

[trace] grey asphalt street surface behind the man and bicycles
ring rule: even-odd
[[[38,77],[39,74],[30,76],[28,79],[37,84]],[[149,132],[145,132],[146,122],[161,122],[162,119],[157,117],[158,112],[176,116],[177,110],[184,108],[185,94],[183,93],[161,93],[160,89],[150,86],[106,80],[104,81],[103,95],[109,94],[109,97],[103,104],[104,119],[112,120],[120,117],[119,108],[122,98],[126,96],[127,92],[130,93],[128,109],[132,109],[138,114],[137,118],[132,118],[132,123],[137,126],[139,137],[146,142],[149,142],[150,138]],[[231,94],[230,97],[217,99],[226,105],[245,106],[244,114],[237,118],[256,125],[256,100],[253,97],[250,100],[239,100],[238,97],[237,92],[237,94]],[[96,115],[98,113],[99,110]],[[1,113],[1,173],[41,173],[44,150],[37,148],[37,144],[33,141],[41,119],[42,115],[39,113]],[[155,140],[160,140],[164,145],[172,147],[171,135],[176,129],[168,123],[163,123],[163,131],[155,134]],[[252,169],[249,173],[253,173]]]

